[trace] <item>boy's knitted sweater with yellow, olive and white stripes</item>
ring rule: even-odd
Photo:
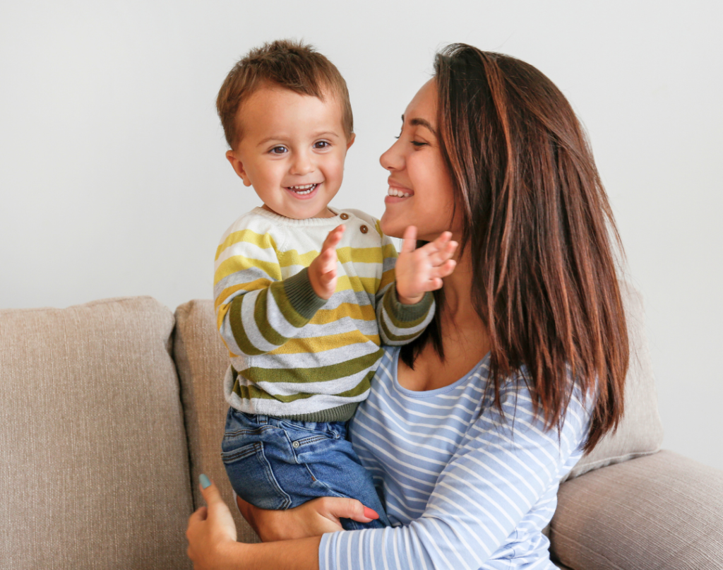
[[[332,211],[295,220],[254,208],[221,237],[213,284],[231,357],[224,393],[241,412],[346,421],[369,394],[380,344],[405,344],[432,319],[431,294],[416,305],[396,299],[397,252],[379,222],[359,210]],[[346,229],[337,284],[325,300],[307,268],[339,224]]]

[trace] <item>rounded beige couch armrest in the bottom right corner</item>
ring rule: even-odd
[[[723,471],[672,451],[565,482],[552,555],[576,570],[723,569]]]

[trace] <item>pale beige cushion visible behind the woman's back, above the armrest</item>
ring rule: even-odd
[[[630,339],[630,367],[625,380],[625,414],[615,433],[608,433],[591,454],[583,457],[568,478],[592,469],[654,454],[663,441],[658,414],[653,365],[645,331],[643,299],[636,289],[620,282]]]

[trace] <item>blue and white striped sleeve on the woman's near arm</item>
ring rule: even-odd
[[[500,397],[505,419],[495,407],[482,410],[419,519],[323,535],[320,569],[472,570],[506,543],[531,507],[557,490],[586,435],[588,416],[573,398],[562,431],[545,432],[523,380],[508,382]]]

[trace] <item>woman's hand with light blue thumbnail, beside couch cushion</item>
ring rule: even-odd
[[[194,570],[218,570],[224,567],[227,554],[236,546],[236,524],[218,488],[205,475],[201,475],[200,481],[207,506],[188,519],[187,553]]]

